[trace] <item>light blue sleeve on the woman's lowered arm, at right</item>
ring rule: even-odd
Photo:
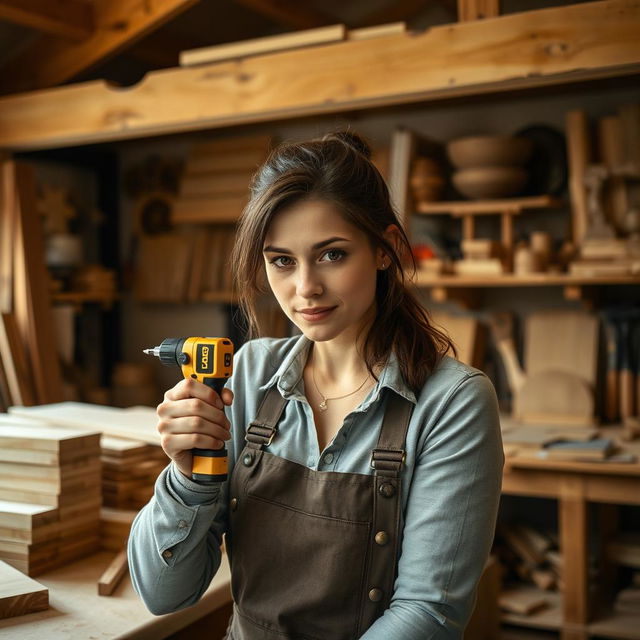
[[[389,609],[362,640],[461,638],[491,549],[504,454],[481,372],[450,391],[416,454]]]

